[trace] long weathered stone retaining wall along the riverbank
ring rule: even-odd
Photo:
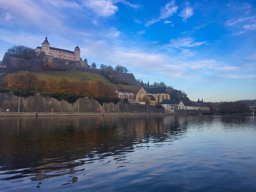
[[[79,102],[78,102],[79,101]],[[30,96],[27,98],[20,97],[20,108],[19,108],[19,97],[11,93],[0,93],[0,112],[66,112],[66,113],[117,113],[118,104],[114,103],[103,103],[103,106],[98,101],[89,98],[79,98],[72,105],[67,101],[58,101],[54,98],[42,97],[41,95]],[[163,108],[157,108],[155,106],[138,105],[132,103],[119,103],[120,113],[164,113]]]

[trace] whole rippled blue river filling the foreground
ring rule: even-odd
[[[0,117],[0,191],[256,191],[256,118]]]

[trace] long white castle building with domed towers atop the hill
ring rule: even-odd
[[[44,52],[46,56],[53,56],[55,58],[71,61],[82,61],[82,59],[80,58],[80,49],[78,46],[75,47],[74,51],[50,47],[50,43],[47,40],[47,37],[45,37],[45,40],[44,42],[42,42],[41,47],[38,46],[37,48],[35,48],[35,52],[37,55]]]

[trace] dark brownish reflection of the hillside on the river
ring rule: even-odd
[[[108,156],[114,156],[116,162],[125,161],[123,154],[134,151],[136,144],[181,139],[187,118],[1,118],[1,180],[33,175],[31,180],[41,181],[76,173],[80,170],[75,167]],[[82,158],[86,160],[75,161]],[[27,167],[31,168],[20,170]]]

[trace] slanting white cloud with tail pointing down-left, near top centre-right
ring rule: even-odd
[[[160,16],[156,19],[151,19],[148,22],[145,23],[146,27],[149,27],[150,25],[153,25],[156,22],[161,21],[162,19],[167,19],[173,14],[175,14],[178,10],[178,6],[175,4],[175,1],[172,0],[165,4],[165,7],[161,8]]]

